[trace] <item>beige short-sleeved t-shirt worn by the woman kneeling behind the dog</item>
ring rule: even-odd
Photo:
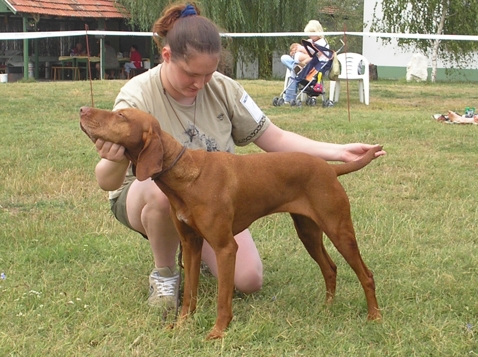
[[[133,77],[121,88],[113,110],[138,108],[158,119],[161,129],[187,148],[230,153],[235,152],[234,145],[253,142],[271,123],[239,83],[215,72],[197,94],[194,124],[195,104],[182,105],[164,94],[160,69],[158,65]],[[189,134],[194,136],[191,138]],[[129,168],[125,182],[120,189],[110,191],[109,198],[118,197],[134,179]]]

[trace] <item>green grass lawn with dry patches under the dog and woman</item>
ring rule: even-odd
[[[124,83],[95,81],[95,106],[111,109]],[[0,84],[0,356],[478,355],[478,126],[431,118],[478,107],[474,84],[372,82],[366,106],[351,82],[349,121],[345,84],[340,101],[324,109],[273,107],[280,81],[241,83],[277,126],[388,152],[340,177],[383,321],[367,321],[363,289],[327,239],[338,275],[335,303],[324,305],[320,269],[290,217],[277,214],[250,228],[264,284],[235,295],[226,337],[204,340],[217,285],[203,275],[196,314],[166,329],[146,304],[149,244],[111,217],[94,178],[99,156],[78,123],[80,106],[91,105],[89,83],[7,83]]]

